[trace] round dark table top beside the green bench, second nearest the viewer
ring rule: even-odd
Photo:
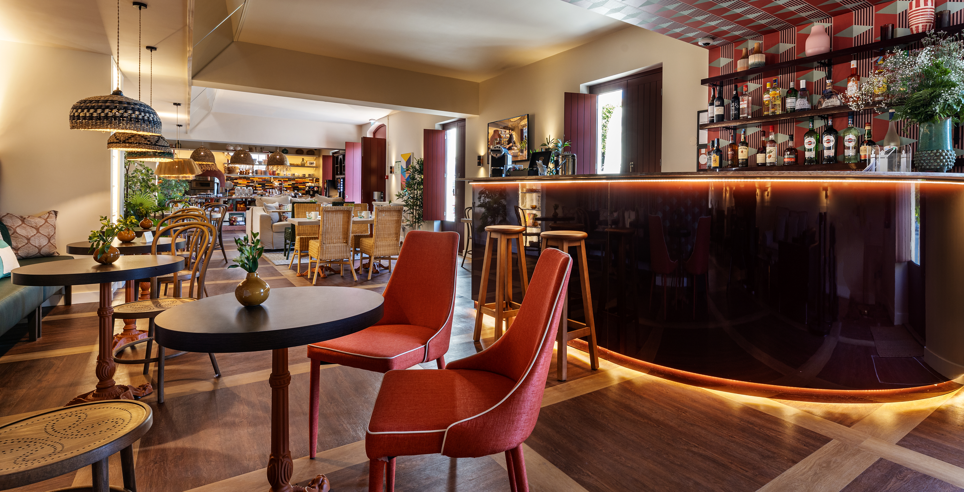
[[[110,265],[101,265],[94,258],[48,261],[13,269],[16,285],[84,285],[122,282],[162,276],[184,268],[184,258],[170,254],[120,256]]]

